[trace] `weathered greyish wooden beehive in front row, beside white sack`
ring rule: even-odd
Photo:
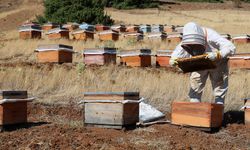
[[[139,122],[138,92],[84,93],[84,124],[122,129]]]

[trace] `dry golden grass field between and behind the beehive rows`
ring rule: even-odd
[[[25,9],[22,8],[22,9]],[[17,13],[9,11],[0,18]],[[174,24],[184,25],[188,21],[212,27],[219,33],[249,33],[250,11],[239,10],[194,10],[166,11],[157,9],[117,11],[107,9],[117,22],[125,24]],[[226,14],[226,15],[225,15]],[[32,16],[33,17],[33,16]],[[32,18],[31,17],[31,18]],[[25,20],[24,20],[25,21]],[[17,27],[17,26],[16,26]],[[73,64],[28,65],[35,62],[34,50],[39,44],[61,43],[74,47]],[[150,48],[174,49],[176,44],[145,40],[133,42],[72,41],[72,40],[19,40],[15,28],[1,32],[0,37],[0,89],[27,89],[38,101],[45,103],[78,102],[85,91],[140,91],[149,103],[166,112],[174,100],[187,101],[189,74],[174,73],[165,68],[126,68],[121,66],[86,67],[81,50],[84,48],[115,46],[119,49]],[[237,45],[237,52],[249,52],[250,45]],[[7,64],[6,64],[7,63]],[[10,64],[14,64],[10,65]],[[213,101],[211,84],[208,81],[203,101]],[[249,97],[250,72],[232,70],[229,77],[229,92],[226,110],[238,110],[242,98]]]

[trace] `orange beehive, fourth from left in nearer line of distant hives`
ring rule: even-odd
[[[101,41],[117,41],[119,40],[119,33],[113,30],[101,31],[98,33]]]

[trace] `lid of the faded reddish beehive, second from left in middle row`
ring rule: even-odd
[[[116,54],[116,48],[86,48],[83,50],[83,54]]]

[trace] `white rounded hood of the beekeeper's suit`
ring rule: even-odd
[[[190,44],[206,45],[203,29],[194,22],[187,23],[183,28],[182,45]]]

